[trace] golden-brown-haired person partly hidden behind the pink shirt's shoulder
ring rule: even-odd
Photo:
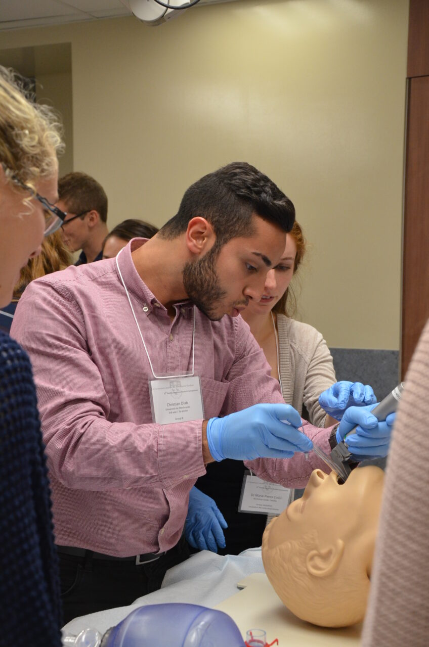
[[[10,331],[17,303],[30,281],[45,274],[65,270],[70,264],[71,255],[62,241],[60,232],[54,232],[43,239],[39,256],[30,258],[27,265],[21,268],[12,301],[0,310],[0,329],[6,333]]]

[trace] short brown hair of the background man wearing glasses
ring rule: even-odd
[[[69,214],[81,214],[95,209],[103,223],[107,220],[106,192],[91,175],[78,171],[67,173],[58,180],[58,197],[67,204]]]

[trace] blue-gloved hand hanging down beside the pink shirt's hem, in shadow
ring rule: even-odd
[[[195,486],[189,492],[188,514],[185,521],[185,537],[192,548],[200,551],[218,552],[225,548],[222,528],[227,528],[222,512],[207,494]]]

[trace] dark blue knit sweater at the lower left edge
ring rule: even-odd
[[[60,647],[61,606],[36,389],[0,331],[0,646]]]

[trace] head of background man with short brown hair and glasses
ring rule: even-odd
[[[67,173],[58,181],[58,206],[67,213],[61,226],[62,239],[71,252],[80,252],[75,265],[102,259],[108,199],[101,184],[86,173]]]

